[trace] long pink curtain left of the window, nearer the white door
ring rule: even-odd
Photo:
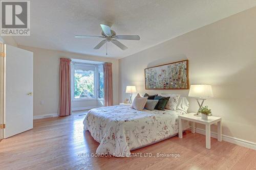
[[[68,58],[60,58],[59,65],[59,116],[71,115],[70,62]]]

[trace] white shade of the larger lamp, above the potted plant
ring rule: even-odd
[[[200,85],[191,85],[188,93],[189,97],[193,98],[213,98],[211,85],[200,84]]]

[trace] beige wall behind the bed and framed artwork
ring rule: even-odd
[[[144,68],[188,59],[190,84],[212,85],[215,98],[205,105],[223,118],[223,134],[256,142],[255,45],[256,8],[252,8],[120,59],[119,102],[128,98],[126,85],[136,85],[139,93],[187,96],[188,90],[145,90]],[[196,100],[188,100],[189,112],[196,112]],[[212,128],[216,131],[216,126]]]

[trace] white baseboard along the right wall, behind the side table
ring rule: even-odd
[[[205,135],[205,130],[201,129],[201,128],[196,128],[196,133],[200,133],[202,135]],[[217,133],[216,132],[210,132],[210,136],[217,139]],[[231,137],[231,136],[227,136],[227,135],[222,135],[222,140],[240,145],[242,147],[246,147],[246,148],[256,150],[256,143],[254,143],[254,142],[250,142],[250,141],[247,141],[247,140],[243,140],[243,139],[239,139],[239,138]]]

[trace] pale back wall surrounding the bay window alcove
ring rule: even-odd
[[[111,62],[113,69],[113,88],[118,89],[118,60],[75,53],[46,50],[19,45],[18,47],[34,53],[34,115],[58,113],[59,101],[59,58],[84,59]],[[118,91],[113,92],[114,104],[118,104]],[[40,105],[40,101],[44,101]],[[98,101],[80,101],[72,103],[72,108],[97,106]]]

